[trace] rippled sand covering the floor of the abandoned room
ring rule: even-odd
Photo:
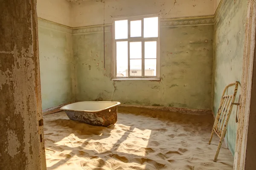
[[[47,170],[232,170],[224,142],[213,162],[219,138],[208,145],[212,125],[211,115],[135,108],[119,109],[111,127],[76,122],[64,112],[47,115]]]

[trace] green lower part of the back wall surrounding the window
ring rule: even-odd
[[[211,109],[213,25],[161,27],[158,82],[111,80],[112,33],[106,29],[105,69],[103,28],[73,31],[77,100]]]

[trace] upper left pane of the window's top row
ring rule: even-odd
[[[115,39],[128,38],[128,20],[115,21]]]

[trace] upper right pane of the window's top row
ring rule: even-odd
[[[144,18],[144,37],[158,37],[158,17]]]

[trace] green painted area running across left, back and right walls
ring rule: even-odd
[[[225,85],[241,82],[246,9],[246,0],[223,0],[215,26],[211,19],[161,21],[160,81],[111,80],[111,26],[105,26],[104,68],[102,26],[72,30],[38,20],[43,109],[96,100],[212,109],[216,114]],[[235,111],[226,135],[232,153]]]

